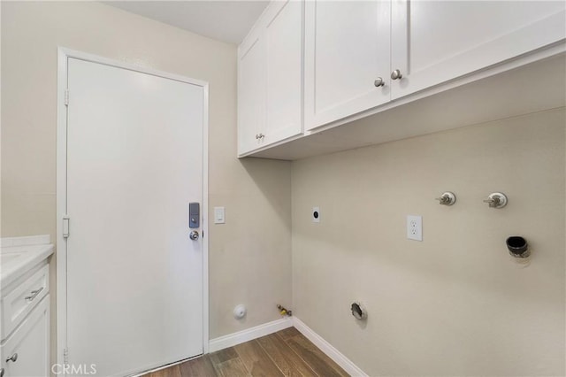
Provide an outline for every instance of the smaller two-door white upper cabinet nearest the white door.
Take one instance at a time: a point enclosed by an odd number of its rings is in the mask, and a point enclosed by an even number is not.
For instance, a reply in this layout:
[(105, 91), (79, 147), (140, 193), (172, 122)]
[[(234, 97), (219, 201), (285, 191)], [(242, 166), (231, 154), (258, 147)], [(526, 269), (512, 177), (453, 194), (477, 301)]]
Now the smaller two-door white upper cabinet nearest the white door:
[(238, 154), (302, 133), (302, 1), (272, 2), (238, 50)]

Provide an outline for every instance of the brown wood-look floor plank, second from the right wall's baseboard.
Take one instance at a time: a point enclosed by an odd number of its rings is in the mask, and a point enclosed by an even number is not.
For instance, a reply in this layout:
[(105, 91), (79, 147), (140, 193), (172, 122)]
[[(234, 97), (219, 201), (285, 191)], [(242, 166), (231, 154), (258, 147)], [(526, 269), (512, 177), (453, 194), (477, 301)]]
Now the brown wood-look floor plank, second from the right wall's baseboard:
[(316, 373), (299, 358), (278, 335), (266, 335), (257, 339), (265, 353), (273, 360), (279, 370), (287, 377), (314, 377)]

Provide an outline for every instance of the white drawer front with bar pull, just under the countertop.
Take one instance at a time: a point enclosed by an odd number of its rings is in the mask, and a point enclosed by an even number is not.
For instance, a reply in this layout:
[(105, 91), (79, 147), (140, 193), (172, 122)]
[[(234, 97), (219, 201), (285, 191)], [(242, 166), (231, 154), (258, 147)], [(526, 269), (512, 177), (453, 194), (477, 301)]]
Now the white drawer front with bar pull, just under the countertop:
[(19, 325), (27, 313), (42, 301), (49, 292), (50, 270), (44, 265), (39, 271), (19, 284), (9, 294), (2, 298), (2, 328), (0, 338), (4, 339)]

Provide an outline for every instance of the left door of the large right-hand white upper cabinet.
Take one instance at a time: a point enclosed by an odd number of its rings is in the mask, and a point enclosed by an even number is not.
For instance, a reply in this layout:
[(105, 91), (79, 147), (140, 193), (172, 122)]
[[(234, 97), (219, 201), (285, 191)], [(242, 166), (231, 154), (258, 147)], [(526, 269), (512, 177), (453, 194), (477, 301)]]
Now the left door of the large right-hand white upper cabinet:
[(305, 128), (389, 101), (389, 46), (388, 1), (306, 2)]

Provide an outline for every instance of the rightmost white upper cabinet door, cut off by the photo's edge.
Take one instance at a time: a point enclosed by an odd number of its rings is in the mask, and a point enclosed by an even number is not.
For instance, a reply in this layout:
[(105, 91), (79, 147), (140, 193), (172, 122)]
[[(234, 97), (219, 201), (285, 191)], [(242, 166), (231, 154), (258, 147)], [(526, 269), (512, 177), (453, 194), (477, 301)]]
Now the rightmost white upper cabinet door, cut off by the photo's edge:
[(564, 4), (394, 0), (392, 99), (563, 40)]

